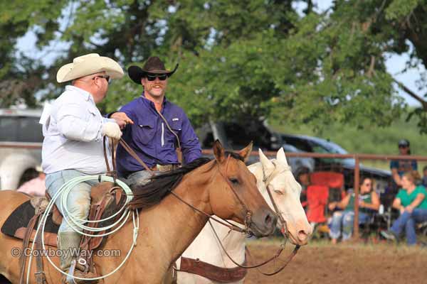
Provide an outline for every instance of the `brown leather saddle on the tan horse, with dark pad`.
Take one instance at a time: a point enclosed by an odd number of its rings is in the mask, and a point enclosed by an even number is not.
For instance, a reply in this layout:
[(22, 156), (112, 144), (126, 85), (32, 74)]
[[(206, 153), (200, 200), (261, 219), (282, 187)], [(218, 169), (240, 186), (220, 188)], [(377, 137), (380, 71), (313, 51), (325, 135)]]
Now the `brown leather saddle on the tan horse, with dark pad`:
[[(102, 182), (99, 185), (92, 187), (90, 192), (91, 202), (88, 219), (90, 221), (98, 221), (115, 214), (125, 203), (126, 196), (122, 194), (122, 188), (115, 186), (112, 182)], [(33, 197), (31, 200), (23, 202), (19, 205), (14, 212), (6, 219), (3, 226), (1, 226), (1, 232), (8, 236), (13, 236), (17, 239), (23, 240), (23, 250), (28, 247), (31, 241), (36, 239), (36, 249), (41, 249), (41, 230), (38, 231), (36, 236), (36, 229), (38, 222), (43, 213), (46, 211), (46, 207), (50, 201), (50, 197), (46, 193), (46, 197)], [(59, 225), (62, 222), (63, 216), (60, 214), (56, 205), (53, 206), (52, 211), (48, 214), (45, 224), (44, 231), (44, 242), (49, 246), (57, 245), (57, 234)], [(88, 223), (88, 226), (108, 226), (115, 222), (114, 219), (107, 220), (105, 222)], [(80, 241), (80, 249), (86, 251), (92, 251), (97, 249), (101, 245), (103, 237), (96, 236), (97, 234), (104, 234), (105, 231), (97, 233), (85, 231), (86, 234), (92, 234), (93, 236), (82, 236)], [(86, 253), (83, 257), (87, 263), (87, 269), (93, 271), (94, 263), (91, 254)], [(80, 258), (82, 258), (80, 256)], [(23, 283), (23, 277), (25, 275), (26, 256), (21, 254), (19, 259), (21, 272), (19, 277), (19, 283)], [(41, 256), (36, 257), (36, 283), (45, 284), (46, 276), (43, 271), (43, 261)]]

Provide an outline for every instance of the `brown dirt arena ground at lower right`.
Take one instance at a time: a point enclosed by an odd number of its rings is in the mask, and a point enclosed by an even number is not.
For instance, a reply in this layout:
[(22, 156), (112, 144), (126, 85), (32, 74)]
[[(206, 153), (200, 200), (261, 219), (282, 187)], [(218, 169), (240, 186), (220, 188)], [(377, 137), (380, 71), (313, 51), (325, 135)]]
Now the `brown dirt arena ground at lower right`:
[[(285, 259), (292, 247), (280, 258)], [(277, 244), (271, 242), (255, 241), (249, 245), (251, 254), (258, 259), (272, 256), (277, 248)], [(274, 271), (273, 268), (269, 266), (263, 271)], [(332, 246), (317, 242), (303, 246), (278, 275), (268, 277), (253, 269), (246, 279), (246, 284), (427, 283), (427, 248), (393, 244)]]

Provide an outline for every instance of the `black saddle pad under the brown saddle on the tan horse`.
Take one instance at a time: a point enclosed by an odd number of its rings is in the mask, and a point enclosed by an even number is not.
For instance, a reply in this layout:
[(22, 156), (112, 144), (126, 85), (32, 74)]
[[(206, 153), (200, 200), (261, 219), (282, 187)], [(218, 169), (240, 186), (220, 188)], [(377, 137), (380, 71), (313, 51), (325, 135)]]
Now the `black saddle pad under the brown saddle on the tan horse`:
[[(23, 202), (19, 205), (14, 212), (6, 219), (3, 226), (1, 226), (1, 232), (8, 236), (15, 236), (16, 231), (19, 228), (26, 228), (30, 219), (36, 214), (34, 207), (31, 205), (30, 200)], [(37, 229), (38, 222), (35, 229)], [(46, 219), (45, 233), (58, 233), (59, 226), (54, 224), (52, 221), (52, 214), (48, 215)]]

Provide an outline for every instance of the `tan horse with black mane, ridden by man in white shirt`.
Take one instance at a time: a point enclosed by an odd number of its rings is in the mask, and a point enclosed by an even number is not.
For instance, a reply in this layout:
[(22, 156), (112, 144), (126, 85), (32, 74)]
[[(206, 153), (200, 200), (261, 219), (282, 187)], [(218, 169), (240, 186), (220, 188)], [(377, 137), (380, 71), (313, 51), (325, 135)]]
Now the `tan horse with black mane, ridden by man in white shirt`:
[[(184, 252), (206, 224), (209, 215), (231, 219), (240, 224), (247, 221), (255, 236), (267, 236), (274, 230), (277, 217), (268, 207), (256, 187), (254, 175), (246, 168), (245, 160), (252, 145), (238, 154), (225, 153), (221, 143), (214, 143), (215, 159), (198, 159), (173, 172), (160, 175), (142, 187), (132, 189), (131, 208), (139, 211), (137, 246), (117, 273), (104, 279), (104, 283), (164, 283), (168, 280), (172, 263)], [(173, 190), (174, 195), (169, 194)], [(196, 209), (189, 207), (180, 197)], [(19, 204), (28, 200), (26, 195), (13, 191), (0, 192), (3, 206), (0, 224)], [(248, 220), (248, 212), (251, 219)], [(110, 235), (105, 245), (93, 254), (98, 273), (106, 275), (122, 262), (133, 240), (132, 222)], [(11, 255), (21, 241), (0, 234), (0, 273), (17, 283), (19, 258)], [(51, 248), (54, 249), (54, 248)], [(121, 252), (120, 257), (102, 257), (105, 251)], [(58, 265), (58, 258), (52, 258)], [(48, 283), (60, 283), (61, 274), (43, 258)], [(35, 283), (35, 267), (31, 270), (31, 283)]]

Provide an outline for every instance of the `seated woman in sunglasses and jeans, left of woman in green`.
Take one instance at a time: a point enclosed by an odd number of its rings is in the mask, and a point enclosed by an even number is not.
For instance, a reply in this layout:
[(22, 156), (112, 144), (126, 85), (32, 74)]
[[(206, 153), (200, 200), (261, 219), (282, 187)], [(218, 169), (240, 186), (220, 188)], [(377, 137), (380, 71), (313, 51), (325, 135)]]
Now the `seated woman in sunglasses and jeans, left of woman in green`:
[[(372, 190), (371, 178), (364, 178), (360, 185), (359, 194), (359, 224), (364, 224), (369, 219), (369, 210), (379, 209), (379, 197), (375, 190)], [(328, 205), (330, 210), (342, 209), (344, 211), (334, 212), (330, 228), (332, 244), (337, 244), (337, 239), (341, 235), (342, 241), (347, 241), (353, 233), (354, 221), (354, 192), (347, 194), (339, 202), (331, 202)]]

